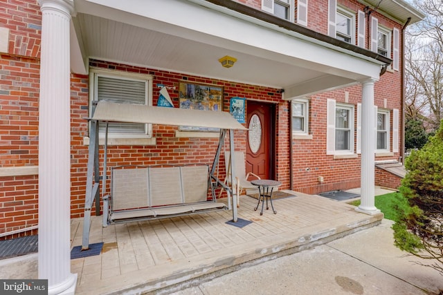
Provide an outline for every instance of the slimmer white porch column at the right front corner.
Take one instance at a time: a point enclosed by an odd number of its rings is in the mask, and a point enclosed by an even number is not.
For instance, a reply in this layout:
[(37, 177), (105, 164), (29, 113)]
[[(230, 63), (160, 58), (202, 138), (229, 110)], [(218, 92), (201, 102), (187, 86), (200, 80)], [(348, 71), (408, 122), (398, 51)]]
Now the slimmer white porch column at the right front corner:
[(375, 114), (374, 79), (361, 83), (361, 204), (356, 208), (367, 214), (380, 213), (374, 204), (375, 195)]

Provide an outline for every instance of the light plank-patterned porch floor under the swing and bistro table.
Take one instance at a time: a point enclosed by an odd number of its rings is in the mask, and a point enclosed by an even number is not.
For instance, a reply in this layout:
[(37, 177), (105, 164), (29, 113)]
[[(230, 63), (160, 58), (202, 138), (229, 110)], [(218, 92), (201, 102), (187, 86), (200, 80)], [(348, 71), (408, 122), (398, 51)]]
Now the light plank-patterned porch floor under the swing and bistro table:
[[(93, 216), (89, 242), (104, 242), (98, 256), (71, 260), (78, 274), (76, 294), (153, 292), (209, 279), (340, 238), (377, 225), (383, 218), (320, 196), (294, 193), (273, 201), (278, 212), (253, 208), (257, 200), (241, 196), (238, 217), (252, 221), (226, 224), (232, 211), (129, 222), (102, 227)], [(266, 209), (266, 208), (265, 208)], [(259, 208), (260, 210), (260, 208)], [(71, 220), (71, 245), (82, 244), (82, 219)]]

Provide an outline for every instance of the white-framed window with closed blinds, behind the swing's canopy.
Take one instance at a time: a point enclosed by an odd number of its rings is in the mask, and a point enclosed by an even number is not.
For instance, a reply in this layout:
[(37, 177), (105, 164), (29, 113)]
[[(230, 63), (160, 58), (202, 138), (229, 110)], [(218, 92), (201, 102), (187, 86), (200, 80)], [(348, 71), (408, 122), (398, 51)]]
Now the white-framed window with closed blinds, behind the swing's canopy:
[[(90, 108), (92, 102), (152, 105), (152, 76), (116, 70), (91, 68), (89, 71)], [(105, 133), (100, 123), (99, 133)], [(152, 136), (152, 124), (109, 123), (109, 137), (143, 138)]]

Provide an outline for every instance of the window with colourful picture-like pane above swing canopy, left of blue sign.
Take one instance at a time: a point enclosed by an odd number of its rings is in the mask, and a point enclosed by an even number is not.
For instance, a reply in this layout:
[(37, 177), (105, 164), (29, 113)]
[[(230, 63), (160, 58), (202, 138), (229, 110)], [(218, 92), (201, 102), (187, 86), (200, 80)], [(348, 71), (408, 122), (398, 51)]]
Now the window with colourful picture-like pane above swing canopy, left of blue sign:
[[(215, 85), (179, 84), (180, 108), (192, 108), (201, 111), (222, 111), (223, 88)], [(217, 128), (180, 126), (181, 131), (219, 131)]]

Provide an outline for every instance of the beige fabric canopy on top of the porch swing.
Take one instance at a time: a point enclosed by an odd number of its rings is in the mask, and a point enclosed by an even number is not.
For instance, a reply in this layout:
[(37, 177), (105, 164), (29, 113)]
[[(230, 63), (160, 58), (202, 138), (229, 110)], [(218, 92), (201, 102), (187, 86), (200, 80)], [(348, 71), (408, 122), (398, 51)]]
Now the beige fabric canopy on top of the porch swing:
[(92, 117), (102, 122), (196, 126), (219, 129), (246, 130), (230, 113), (205, 112), (187, 108), (165, 108), (141, 104), (98, 102)]

